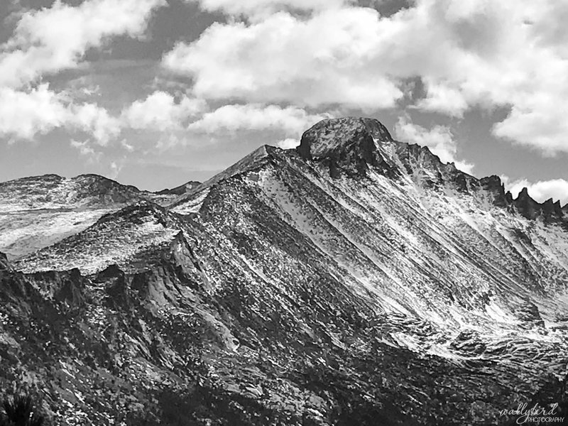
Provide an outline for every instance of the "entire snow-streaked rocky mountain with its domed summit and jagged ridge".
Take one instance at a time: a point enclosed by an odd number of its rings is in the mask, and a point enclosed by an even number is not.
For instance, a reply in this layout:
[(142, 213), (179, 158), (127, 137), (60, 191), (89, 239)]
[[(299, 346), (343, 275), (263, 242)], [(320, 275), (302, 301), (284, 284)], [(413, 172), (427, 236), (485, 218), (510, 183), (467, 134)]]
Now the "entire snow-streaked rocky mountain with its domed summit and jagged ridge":
[(1, 388), (50, 424), (568, 417), (566, 206), (373, 119), (182, 190), (89, 179), (0, 184)]

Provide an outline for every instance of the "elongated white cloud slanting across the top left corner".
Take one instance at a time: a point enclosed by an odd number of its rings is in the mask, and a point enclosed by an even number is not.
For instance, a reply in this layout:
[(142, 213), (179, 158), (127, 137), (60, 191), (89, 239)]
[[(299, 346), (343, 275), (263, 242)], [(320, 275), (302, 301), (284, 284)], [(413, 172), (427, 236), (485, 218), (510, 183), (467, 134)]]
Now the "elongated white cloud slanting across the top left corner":
[(75, 68), (89, 48), (116, 35), (138, 37), (165, 0), (87, 0), (23, 13), (1, 46), (0, 85), (20, 87), (48, 73)]

